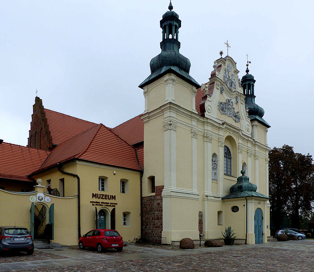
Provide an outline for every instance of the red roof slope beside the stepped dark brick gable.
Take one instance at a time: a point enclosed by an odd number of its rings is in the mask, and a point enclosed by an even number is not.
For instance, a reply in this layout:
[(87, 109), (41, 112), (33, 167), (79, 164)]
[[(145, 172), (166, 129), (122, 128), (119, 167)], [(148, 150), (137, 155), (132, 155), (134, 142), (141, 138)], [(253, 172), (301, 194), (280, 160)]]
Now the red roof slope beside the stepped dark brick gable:
[(81, 120), (70, 115), (45, 109), (49, 130), (52, 136), (52, 144), (59, 145), (62, 142), (97, 125), (89, 121)]

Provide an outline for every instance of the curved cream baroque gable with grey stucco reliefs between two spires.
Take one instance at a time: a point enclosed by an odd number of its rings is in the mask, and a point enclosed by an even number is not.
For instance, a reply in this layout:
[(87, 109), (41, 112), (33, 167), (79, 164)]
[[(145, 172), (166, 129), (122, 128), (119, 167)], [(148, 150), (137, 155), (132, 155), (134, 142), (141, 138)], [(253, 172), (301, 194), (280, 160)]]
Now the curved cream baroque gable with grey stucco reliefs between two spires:
[(201, 87), (205, 94), (200, 103), (201, 115), (237, 126), (250, 135), (252, 126), (235, 61), (229, 56), (220, 58), (213, 68), (209, 82)]

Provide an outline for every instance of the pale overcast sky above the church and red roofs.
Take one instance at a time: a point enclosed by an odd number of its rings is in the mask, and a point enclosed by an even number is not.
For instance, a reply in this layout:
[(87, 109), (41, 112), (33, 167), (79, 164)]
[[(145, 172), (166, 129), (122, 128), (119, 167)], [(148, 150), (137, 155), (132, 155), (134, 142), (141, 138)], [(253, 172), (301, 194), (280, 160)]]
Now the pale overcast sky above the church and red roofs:
[[(265, 110), (270, 148), (314, 155), (313, 0), (173, 0), (180, 52), (208, 82), (219, 51)], [(0, 139), (26, 145), (37, 95), (45, 108), (114, 127), (144, 110), (138, 85), (160, 53), (169, 0), (0, 0)], [(311, 83), (311, 84), (309, 84)]]

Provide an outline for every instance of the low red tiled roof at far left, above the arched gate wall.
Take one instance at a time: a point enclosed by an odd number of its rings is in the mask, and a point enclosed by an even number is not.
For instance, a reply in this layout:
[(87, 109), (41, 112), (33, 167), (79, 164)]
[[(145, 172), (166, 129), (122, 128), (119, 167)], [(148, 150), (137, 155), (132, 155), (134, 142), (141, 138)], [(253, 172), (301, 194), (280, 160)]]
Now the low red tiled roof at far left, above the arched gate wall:
[(37, 170), (50, 151), (2, 143), (0, 145), (0, 178), (33, 181), (26, 175)]

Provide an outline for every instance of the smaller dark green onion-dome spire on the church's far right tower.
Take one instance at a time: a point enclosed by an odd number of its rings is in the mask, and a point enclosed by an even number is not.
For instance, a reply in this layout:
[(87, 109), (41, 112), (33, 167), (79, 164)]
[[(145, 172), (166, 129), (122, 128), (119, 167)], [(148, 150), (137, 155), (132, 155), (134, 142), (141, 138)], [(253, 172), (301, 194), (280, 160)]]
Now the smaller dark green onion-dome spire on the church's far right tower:
[(258, 121), (266, 127), (270, 125), (262, 118), (264, 116), (264, 110), (262, 107), (255, 103), (256, 96), (254, 95), (254, 83), (255, 79), (252, 74), (249, 74), (249, 64), (246, 64), (246, 74), (242, 76), (241, 86), (243, 88), (243, 94), (245, 97), (245, 106), (248, 108), (249, 118), (251, 121)]

